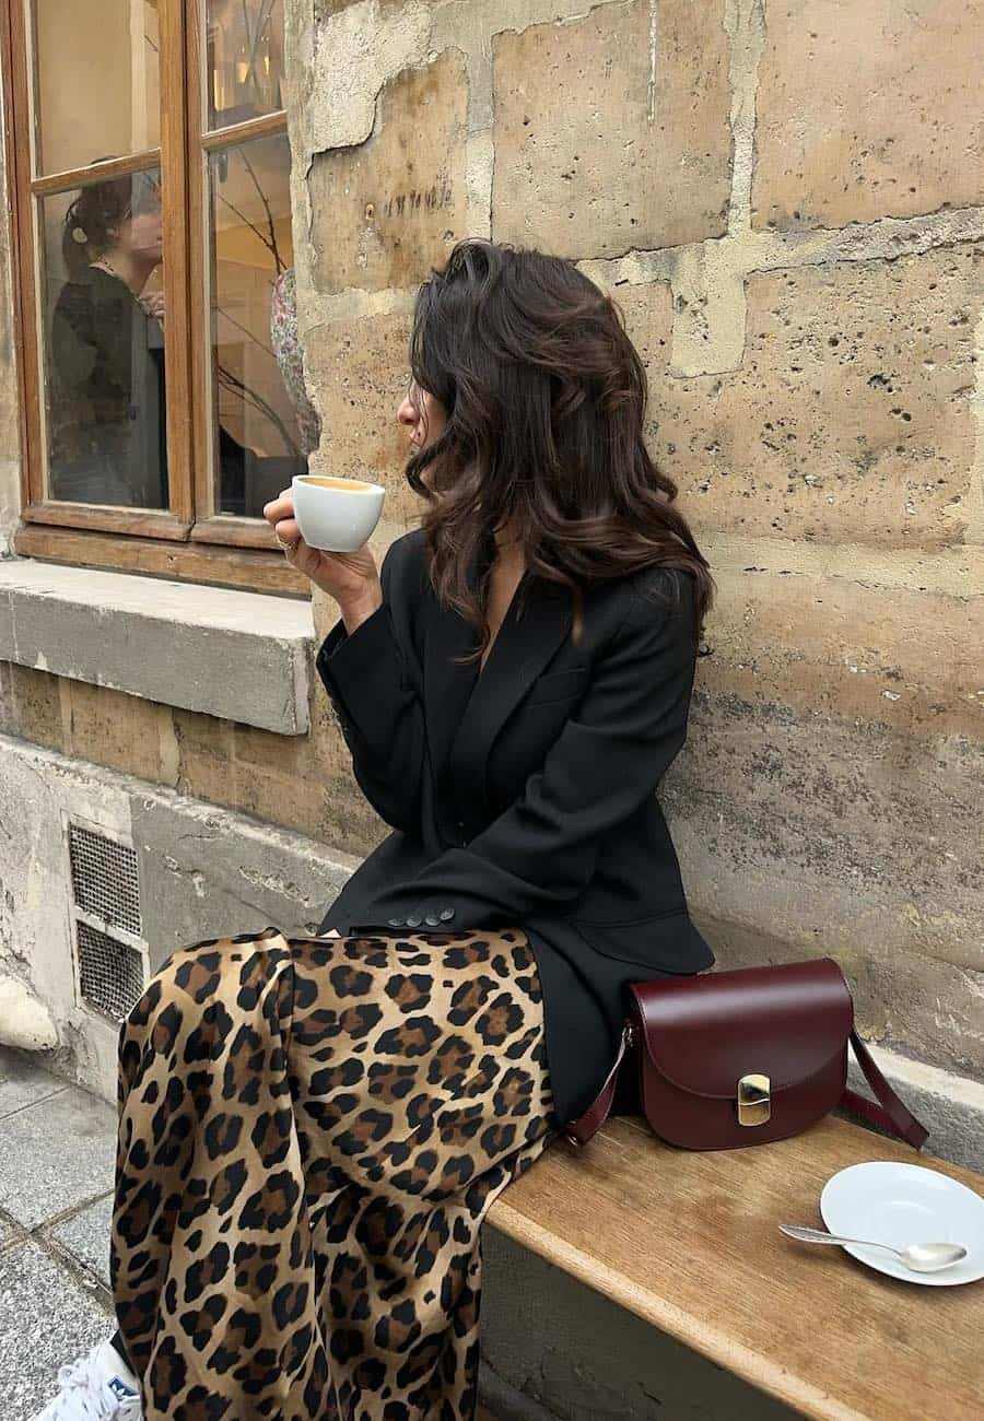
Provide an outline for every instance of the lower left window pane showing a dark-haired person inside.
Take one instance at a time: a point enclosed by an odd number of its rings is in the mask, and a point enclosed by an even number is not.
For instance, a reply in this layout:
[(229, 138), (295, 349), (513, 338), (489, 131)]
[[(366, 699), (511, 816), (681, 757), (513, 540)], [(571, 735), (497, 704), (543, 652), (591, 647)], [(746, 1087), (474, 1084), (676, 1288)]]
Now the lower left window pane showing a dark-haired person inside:
[(156, 169), (38, 202), (47, 496), (168, 507)]

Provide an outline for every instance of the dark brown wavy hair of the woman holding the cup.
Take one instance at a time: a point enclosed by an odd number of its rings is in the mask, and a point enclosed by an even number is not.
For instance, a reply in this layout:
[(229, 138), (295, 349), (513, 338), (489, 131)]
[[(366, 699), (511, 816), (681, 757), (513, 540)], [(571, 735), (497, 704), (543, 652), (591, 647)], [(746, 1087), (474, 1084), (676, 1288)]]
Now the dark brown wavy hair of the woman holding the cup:
[(466, 661), (491, 637), (466, 571), (512, 517), (526, 570), (569, 588), (574, 642), (583, 588), (653, 564), (692, 573), (700, 635), (714, 584), (643, 441), (646, 368), (609, 296), (562, 257), (459, 242), (417, 296), (410, 367), (418, 414), (419, 389), (446, 412), (407, 482), (434, 590), (482, 632)]

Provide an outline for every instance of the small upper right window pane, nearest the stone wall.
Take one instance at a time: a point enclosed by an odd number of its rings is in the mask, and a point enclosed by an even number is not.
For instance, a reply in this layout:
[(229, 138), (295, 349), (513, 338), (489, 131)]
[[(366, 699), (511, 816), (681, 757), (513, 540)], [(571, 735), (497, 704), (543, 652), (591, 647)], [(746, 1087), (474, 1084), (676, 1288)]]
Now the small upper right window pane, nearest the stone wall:
[(286, 108), (283, 0), (209, 0), (205, 13), (206, 128)]

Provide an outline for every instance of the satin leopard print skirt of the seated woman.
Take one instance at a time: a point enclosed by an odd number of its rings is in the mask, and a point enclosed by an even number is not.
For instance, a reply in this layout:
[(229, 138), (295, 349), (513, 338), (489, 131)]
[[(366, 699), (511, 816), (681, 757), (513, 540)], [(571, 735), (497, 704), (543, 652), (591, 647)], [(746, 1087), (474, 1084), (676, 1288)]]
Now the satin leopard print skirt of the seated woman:
[(119, 1033), (146, 1421), (465, 1421), (479, 1225), (557, 1131), (522, 929), (178, 949)]

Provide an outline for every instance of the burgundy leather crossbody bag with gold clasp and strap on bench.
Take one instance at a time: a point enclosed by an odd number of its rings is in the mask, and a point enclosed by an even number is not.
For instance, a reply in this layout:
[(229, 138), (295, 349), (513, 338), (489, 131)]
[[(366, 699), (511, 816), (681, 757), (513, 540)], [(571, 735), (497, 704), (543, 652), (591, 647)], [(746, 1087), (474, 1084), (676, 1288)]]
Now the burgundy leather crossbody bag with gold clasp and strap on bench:
[[(877, 1104), (847, 1088), (847, 1042)], [(606, 1121), (633, 1053), (646, 1118), (684, 1150), (785, 1140), (838, 1104), (916, 1150), (927, 1137), (857, 1036), (833, 958), (633, 983), (619, 1056), (594, 1103), (567, 1125), (573, 1144), (587, 1144)]]

